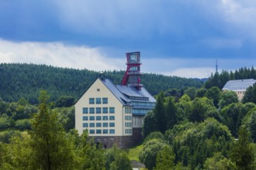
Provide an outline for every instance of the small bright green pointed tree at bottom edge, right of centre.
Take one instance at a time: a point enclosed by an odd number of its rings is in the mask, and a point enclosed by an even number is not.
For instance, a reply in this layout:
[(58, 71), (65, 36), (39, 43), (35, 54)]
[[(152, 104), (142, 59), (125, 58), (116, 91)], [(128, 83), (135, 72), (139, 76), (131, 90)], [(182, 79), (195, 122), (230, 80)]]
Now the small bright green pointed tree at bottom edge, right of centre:
[(157, 153), (157, 163), (154, 170), (171, 170), (175, 168), (175, 154), (171, 147), (166, 145)]

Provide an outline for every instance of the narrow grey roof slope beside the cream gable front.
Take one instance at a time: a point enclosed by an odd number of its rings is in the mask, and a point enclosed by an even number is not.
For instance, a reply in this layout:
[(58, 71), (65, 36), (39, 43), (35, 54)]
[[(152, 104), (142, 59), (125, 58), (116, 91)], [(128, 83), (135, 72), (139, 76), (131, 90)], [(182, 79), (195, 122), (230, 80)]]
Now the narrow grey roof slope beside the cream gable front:
[(123, 105), (131, 105), (130, 99), (125, 97), (123, 93), (121, 93), (117, 88), (116, 85), (112, 83), (109, 79), (99, 79), (102, 83), (112, 92), (112, 94), (123, 104)]

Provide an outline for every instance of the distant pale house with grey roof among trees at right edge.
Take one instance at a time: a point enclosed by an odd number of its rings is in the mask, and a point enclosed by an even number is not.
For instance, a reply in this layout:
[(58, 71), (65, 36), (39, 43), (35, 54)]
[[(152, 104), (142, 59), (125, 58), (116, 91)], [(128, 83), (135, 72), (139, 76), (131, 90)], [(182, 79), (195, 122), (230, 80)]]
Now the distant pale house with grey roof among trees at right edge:
[(254, 79), (229, 80), (222, 90), (232, 90), (237, 93), (238, 100), (242, 100), (247, 88), (253, 86), (254, 83), (256, 83), (256, 80)]

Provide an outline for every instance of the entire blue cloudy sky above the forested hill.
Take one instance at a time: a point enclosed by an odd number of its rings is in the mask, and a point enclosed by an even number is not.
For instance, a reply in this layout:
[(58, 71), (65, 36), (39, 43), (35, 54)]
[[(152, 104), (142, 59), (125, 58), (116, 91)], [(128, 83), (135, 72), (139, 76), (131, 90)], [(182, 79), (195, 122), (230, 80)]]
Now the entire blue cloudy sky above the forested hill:
[(0, 63), (205, 78), (256, 66), (255, 0), (0, 0)]

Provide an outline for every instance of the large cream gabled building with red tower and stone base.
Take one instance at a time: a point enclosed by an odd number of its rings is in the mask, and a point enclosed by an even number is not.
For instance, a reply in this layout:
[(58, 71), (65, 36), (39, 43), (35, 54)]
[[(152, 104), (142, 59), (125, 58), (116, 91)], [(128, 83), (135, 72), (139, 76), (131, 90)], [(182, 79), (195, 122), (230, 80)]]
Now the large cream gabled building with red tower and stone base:
[(75, 107), (75, 128), (104, 148), (127, 148), (141, 139), (145, 114), (156, 100), (140, 83), (140, 53), (126, 53), (127, 69), (121, 85), (103, 74), (92, 83)]

